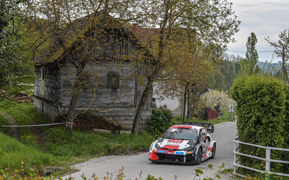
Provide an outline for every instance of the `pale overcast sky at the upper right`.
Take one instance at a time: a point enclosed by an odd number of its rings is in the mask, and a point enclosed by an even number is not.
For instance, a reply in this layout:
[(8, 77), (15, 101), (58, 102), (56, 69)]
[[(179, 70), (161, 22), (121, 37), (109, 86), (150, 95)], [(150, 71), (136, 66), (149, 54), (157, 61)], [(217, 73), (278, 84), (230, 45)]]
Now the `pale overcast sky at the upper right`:
[[(254, 32), (257, 37), (257, 51), (272, 51), (273, 47), (264, 39), (278, 41), (281, 31), (289, 28), (289, 0), (228, 0), (233, 3), (233, 10), (241, 21), (240, 31), (235, 34), (236, 43), (228, 44), (228, 50), (247, 51), (248, 36)], [(245, 57), (244, 52), (230, 52), (228, 54)], [(258, 52), (259, 61), (270, 61), (273, 52)], [(274, 57), (272, 62), (282, 61)]]

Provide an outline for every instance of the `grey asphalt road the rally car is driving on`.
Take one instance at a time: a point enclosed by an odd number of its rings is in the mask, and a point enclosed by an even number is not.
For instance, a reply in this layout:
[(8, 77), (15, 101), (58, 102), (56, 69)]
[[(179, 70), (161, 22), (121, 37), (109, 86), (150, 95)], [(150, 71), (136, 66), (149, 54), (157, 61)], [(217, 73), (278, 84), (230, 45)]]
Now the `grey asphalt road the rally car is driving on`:
[[(216, 155), (214, 159), (207, 159), (200, 165), (182, 165), (182, 164), (169, 164), (169, 163), (152, 163), (148, 160), (148, 152), (140, 153), (138, 155), (124, 155), (124, 156), (104, 156), (94, 158), (84, 163), (76, 164), (73, 168), (78, 169), (76, 173), (64, 176), (76, 177), (80, 180), (82, 173), (89, 178), (95, 173), (96, 177), (103, 179), (107, 176), (107, 172), (112, 173), (113, 179), (119, 172), (121, 167), (124, 167), (123, 173), (126, 176), (124, 179), (136, 179), (140, 177), (145, 178), (148, 174), (155, 177), (161, 177), (164, 180), (173, 180), (176, 176), (178, 180), (193, 179), (197, 167), (203, 169), (204, 175), (200, 176), (215, 178), (218, 173), (219, 166), (225, 163), (225, 168), (233, 167), (233, 140), (237, 138), (237, 130), (235, 122), (223, 122), (214, 125), (214, 133), (212, 138), (217, 141)], [(213, 169), (207, 167), (208, 163), (213, 164)], [(217, 178), (216, 178), (217, 179)]]

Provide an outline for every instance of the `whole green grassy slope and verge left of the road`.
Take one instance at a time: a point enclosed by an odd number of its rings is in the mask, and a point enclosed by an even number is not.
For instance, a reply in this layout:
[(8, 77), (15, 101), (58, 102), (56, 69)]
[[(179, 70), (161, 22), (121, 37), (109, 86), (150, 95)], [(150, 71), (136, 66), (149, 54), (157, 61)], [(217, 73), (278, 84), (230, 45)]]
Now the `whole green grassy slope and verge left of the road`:
[[(16, 103), (9, 100), (0, 100), (0, 125), (8, 125), (7, 116), (13, 117), (18, 125), (29, 125), (33, 120), (37, 124), (48, 123), (34, 109), (30, 101)], [(73, 130), (72, 136), (64, 132), (64, 126), (41, 127), (47, 152), (43, 152), (36, 141), (36, 137), (29, 127), (20, 127), (19, 141), (8, 137), (10, 128), (2, 128), (5, 133), (0, 137), (0, 169), (12, 167), (20, 169), (24, 163), (23, 174), (31, 172), (29, 167), (36, 166), (39, 173), (43, 166), (66, 167), (66, 170), (55, 173), (59, 175), (70, 170), (71, 164), (83, 162), (107, 154), (122, 154), (138, 151), (147, 151), (155, 140), (154, 135), (146, 132), (138, 136), (130, 134), (98, 134), (92, 131)], [(5, 146), (3, 146), (5, 145)], [(2, 146), (4, 148), (2, 148)], [(6, 158), (5, 161), (2, 159)]]

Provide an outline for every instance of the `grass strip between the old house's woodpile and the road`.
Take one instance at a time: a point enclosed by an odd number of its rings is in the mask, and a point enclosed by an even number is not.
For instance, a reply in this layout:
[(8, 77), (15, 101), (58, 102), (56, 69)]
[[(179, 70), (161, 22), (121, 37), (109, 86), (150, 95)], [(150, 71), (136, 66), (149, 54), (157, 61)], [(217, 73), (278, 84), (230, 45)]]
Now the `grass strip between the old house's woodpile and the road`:
[[(110, 153), (120, 154), (122, 149), (148, 149), (154, 136), (146, 132), (134, 136), (130, 134), (98, 134), (91, 131), (73, 130), (70, 137), (63, 128), (50, 128), (44, 134), (47, 151), (55, 156), (94, 158)], [(117, 147), (117, 145), (120, 145)]]

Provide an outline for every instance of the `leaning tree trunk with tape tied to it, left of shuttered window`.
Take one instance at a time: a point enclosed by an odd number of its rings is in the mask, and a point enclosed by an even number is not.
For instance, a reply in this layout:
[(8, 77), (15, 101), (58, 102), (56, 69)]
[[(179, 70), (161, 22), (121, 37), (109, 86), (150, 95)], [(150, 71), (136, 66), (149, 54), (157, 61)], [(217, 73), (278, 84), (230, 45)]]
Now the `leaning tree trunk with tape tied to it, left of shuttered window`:
[[(76, 71), (75, 81), (73, 84), (72, 95), (70, 98), (70, 104), (69, 104), (69, 108), (68, 108), (68, 112), (67, 112), (67, 122), (70, 122), (70, 123), (73, 123), (74, 110), (76, 107), (78, 94), (79, 94), (79, 90), (80, 90), (80, 79), (81, 79), (85, 64), (79, 63), (78, 67), (76, 68), (77, 71)], [(67, 132), (68, 134), (72, 134), (72, 124), (67, 124), (65, 132)]]

